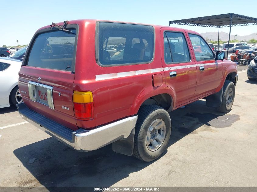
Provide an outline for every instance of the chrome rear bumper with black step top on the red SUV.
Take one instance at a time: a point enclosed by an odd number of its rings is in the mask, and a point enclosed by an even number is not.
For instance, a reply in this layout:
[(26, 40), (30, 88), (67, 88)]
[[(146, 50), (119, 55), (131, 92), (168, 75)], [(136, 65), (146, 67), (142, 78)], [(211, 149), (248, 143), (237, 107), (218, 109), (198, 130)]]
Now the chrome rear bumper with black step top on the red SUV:
[(73, 131), (27, 108), (24, 103), (17, 104), (17, 108), (24, 120), (81, 152), (96, 150), (127, 138), (137, 123), (137, 116), (132, 116), (92, 130)]

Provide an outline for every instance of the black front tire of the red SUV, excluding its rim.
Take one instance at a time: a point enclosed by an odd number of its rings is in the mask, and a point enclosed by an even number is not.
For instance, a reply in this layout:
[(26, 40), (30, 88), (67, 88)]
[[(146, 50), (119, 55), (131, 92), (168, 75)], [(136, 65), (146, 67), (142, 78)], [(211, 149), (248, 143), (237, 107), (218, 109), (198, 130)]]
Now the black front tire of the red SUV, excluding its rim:
[[(228, 95), (228, 91), (231, 90), (231, 89), (233, 91), (232, 98), (231, 98), (229, 106), (227, 106), (227, 95)], [(232, 81), (226, 80), (224, 85), (223, 85), (223, 93), (222, 93), (221, 106), (218, 107), (217, 110), (219, 112), (222, 112), (222, 113), (229, 112), (231, 107), (232, 107), (232, 105), (233, 105), (233, 103), (234, 103), (234, 98), (235, 98), (235, 85), (234, 85), (234, 83)]]

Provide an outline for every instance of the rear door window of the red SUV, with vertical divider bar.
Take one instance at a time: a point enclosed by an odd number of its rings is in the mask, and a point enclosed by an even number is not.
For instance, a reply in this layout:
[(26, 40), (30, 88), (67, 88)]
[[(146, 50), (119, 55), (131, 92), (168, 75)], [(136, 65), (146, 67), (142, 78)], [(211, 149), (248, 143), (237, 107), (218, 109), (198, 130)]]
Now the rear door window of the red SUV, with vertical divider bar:
[(164, 60), (166, 63), (190, 61), (189, 50), (183, 33), (165, 32)]

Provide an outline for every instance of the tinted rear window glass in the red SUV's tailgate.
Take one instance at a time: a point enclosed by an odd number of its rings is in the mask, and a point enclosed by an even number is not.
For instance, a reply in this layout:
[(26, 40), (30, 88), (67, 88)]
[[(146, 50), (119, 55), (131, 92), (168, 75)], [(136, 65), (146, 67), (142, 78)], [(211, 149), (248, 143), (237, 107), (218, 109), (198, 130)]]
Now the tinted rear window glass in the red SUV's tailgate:
[(74, 71), (76, 29), (39, 34), (30, 50), (28, 66)]

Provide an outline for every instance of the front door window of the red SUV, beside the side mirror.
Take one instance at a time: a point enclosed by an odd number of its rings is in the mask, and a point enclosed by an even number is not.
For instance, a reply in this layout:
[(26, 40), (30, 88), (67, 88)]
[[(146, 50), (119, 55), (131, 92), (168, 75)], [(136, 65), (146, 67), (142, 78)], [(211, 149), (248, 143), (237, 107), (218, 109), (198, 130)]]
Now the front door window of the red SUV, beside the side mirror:
[(207, 43), (199, 35), (189, 34), (189, 38), (194, 48), (197, 61), (213, 60), (214, 54)]

